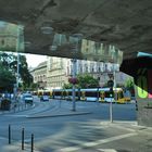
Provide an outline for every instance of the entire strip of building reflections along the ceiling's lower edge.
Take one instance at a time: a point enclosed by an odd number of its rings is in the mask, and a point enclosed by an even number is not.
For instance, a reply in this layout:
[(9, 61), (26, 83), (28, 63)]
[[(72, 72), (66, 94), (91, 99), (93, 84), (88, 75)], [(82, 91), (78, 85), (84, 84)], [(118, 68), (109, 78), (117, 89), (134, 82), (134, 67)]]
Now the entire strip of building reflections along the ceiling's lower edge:
[[(80, 38), (76, 36), (80, 36)], [(24, 27), (22, 25), (0, 22), (1, 51), (26, 53), (30, 50), (31, 53), (35, 53), (36, 49), (38, 49), (37, 54), (45, 55), (118, 64), (123, 61), (123, 52), (116, 47), (87, 40), (83, 38), (81, 34), (63, 35), (54, 33), (53, 39), (50, 39), (50, 45), (47, 43), (48, 47), (45, 47), (45, 41), (43, 43), (38, 43), (36, 41), (36, 48), (33, 48), (33, 43), (24, 38)], [(39, 46), (39, 48), (37, 46)], [(45, 48), (45, 50), (42, 50), (42, 48)]]

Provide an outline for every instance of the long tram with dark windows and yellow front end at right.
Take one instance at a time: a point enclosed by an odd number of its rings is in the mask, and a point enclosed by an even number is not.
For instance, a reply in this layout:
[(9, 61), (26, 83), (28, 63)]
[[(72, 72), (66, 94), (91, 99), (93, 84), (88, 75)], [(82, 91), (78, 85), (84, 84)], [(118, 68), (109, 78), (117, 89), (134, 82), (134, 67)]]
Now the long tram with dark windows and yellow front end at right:
[[(72, 89), (54, 89), (52, 91), (53, 99), (72, 100)], [(89, 102), (116, 102), (128, 103), (130, 98), (124, 96), (122, 88), (89, 88), (89, 89), (75, 89), (75, 97), (77, 101)]]

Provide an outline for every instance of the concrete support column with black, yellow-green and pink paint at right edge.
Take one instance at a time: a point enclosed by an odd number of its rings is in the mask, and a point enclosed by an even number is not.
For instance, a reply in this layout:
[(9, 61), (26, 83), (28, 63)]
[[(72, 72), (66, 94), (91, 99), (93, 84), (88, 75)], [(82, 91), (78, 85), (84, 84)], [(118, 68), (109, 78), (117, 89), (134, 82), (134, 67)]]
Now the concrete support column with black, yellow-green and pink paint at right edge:
[(152, 58), (123, 61), (121, 71), (135, 80), (138, 125), (152, 127)]

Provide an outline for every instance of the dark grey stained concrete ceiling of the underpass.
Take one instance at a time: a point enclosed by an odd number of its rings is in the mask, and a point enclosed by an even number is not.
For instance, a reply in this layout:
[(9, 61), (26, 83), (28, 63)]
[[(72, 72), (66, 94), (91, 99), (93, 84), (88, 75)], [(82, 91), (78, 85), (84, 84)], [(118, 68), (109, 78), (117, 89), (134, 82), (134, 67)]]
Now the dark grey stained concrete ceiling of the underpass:
[[(0, 20), (25, 26), (25, 52), (59, 55), (50, 51), (54, 33), (114, 45), (124, 59), (152, 52), (151, 0), (0, 0)], [(53, 33), (43, 35), (41, 27)], [(68, 56), (71, 46), (62, 48)]]

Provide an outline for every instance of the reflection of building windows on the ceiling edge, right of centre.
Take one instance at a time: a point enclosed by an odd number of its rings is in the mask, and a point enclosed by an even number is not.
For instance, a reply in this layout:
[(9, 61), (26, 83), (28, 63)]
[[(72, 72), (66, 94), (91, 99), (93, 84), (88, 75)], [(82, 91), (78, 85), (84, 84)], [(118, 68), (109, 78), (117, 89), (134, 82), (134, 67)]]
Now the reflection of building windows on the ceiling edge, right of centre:
[(81, 60), (118, 64), (123, 61), (123, 52), (114, 46), (94, 42), (87, 39), (79, 39), (77, 42), (76, 38), (73, 36), (55, 34), (52, 46), (56, 46), (58, 52), (63, 55), (65, 53), (64, 47), (66, 47), (65, 51), (68, 52), (66, 55), (67, 58), (74, 58), (74, 55), (76, 55), (77, 59)]

